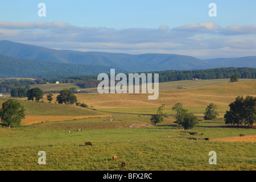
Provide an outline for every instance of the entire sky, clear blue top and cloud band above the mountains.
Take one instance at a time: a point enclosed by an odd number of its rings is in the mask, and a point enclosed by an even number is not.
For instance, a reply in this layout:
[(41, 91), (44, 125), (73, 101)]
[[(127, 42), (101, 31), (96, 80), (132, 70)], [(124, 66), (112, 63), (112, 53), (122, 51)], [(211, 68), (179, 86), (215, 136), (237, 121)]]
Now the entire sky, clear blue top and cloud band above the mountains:
[[(46, 17), (38, 4), (46, 4)], [(209, 3), (217, 16), (210, 17)], [(256, 1), (0, 1), (0, 40), (56, 49), (256, 55)]]

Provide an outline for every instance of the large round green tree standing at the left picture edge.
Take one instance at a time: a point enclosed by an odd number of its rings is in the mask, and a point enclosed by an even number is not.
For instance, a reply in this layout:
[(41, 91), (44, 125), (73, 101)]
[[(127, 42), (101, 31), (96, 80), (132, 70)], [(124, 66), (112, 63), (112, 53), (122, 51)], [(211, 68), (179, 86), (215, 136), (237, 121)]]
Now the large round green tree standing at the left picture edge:
[(1, 122), (8, 127), (20, 126), (21, 120), (25, 118), (24, 111), (24, 107), (18, 101), (9, 99), (2, 104), (0, 110)]

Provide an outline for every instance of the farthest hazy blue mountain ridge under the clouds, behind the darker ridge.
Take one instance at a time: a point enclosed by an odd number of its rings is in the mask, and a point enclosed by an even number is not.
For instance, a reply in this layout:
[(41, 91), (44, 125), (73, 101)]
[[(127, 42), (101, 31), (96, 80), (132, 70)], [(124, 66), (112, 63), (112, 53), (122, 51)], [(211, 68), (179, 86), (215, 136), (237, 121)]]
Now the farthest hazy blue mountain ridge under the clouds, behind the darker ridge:
[(192, 56), (160, 53), (129, 55), (126, 53), (55, 50), (7, 40), (0, 41), (0, 55), (56, 63), (101, 65), (122, 68), (127, 72), (193, 70), (221, 67), (256, 68), (256, 56), (200, 60)]

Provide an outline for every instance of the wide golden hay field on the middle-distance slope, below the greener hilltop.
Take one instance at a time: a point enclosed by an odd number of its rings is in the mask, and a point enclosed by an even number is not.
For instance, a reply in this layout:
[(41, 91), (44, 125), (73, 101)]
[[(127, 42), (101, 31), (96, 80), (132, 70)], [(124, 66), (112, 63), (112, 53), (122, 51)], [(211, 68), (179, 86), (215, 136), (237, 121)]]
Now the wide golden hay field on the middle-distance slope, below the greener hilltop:
[(237, 96), (256, 96), (256, 80), (202, 86), (199, 88), (160, 91), (157, 100), (148, 100), (148, 94), (76, 94), (79, 102), (96, 108), (118, 107), (172, 107), (177, 102), (184, 107), (206, 107), (214, 102), (228, 107)]

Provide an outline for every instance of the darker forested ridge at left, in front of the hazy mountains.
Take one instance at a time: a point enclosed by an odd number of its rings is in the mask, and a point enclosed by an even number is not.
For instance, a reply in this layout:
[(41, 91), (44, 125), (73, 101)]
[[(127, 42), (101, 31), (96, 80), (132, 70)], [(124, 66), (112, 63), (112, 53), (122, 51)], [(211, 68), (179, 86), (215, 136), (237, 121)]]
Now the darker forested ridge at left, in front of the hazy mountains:
[[(0, 55), (0, 78), (65, 78), (75, 75), (94, 75), (99, 73), (108, 73), (110, 68), (115, 67), (35, 61)], [(125, 73), (127, 71), (120, 68), (115, 68), (115, 72)]]

